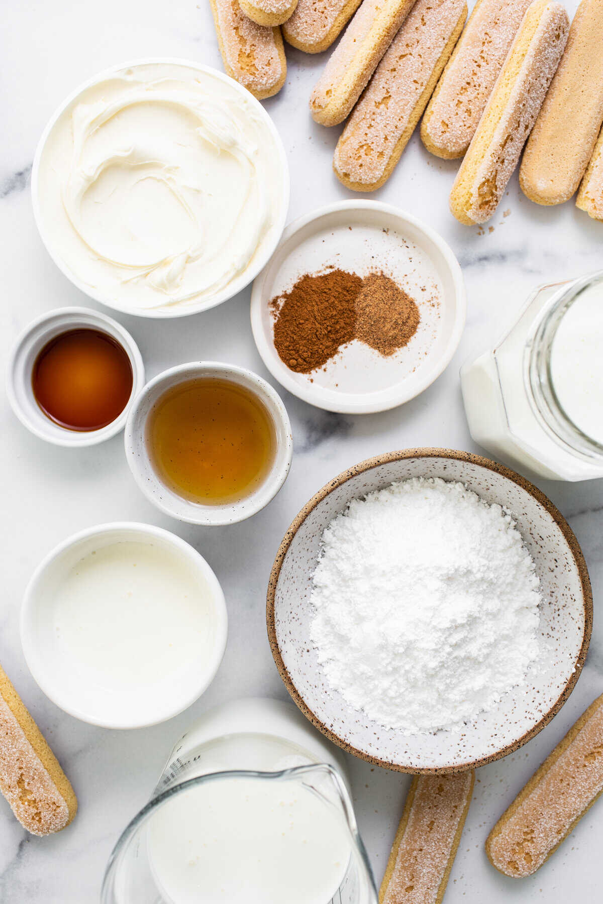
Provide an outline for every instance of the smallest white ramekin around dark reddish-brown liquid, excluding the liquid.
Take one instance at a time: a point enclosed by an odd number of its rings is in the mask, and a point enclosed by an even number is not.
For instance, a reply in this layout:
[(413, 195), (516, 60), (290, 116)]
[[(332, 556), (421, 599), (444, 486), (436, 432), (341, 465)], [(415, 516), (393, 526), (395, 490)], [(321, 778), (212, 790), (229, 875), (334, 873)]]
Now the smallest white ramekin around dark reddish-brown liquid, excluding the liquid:
[[(106, 333), (121, 345), (132, 366), (132, 391), (126, 408), (107, 427), (99, 430), (69, 430), (55, 424), (44, 414), (33, 396), (33, 364), (42, 348), (55, 336), (77, 329), (95, 329)], [(21, 423), (36, 437), (55, 446), (96, 446), (123, 430), (127, 412), (145, 383), (145, 365), (132, 336), (117, 320), (88, 307), (60, 307), (42, 314), (26, 326), (16, 340), (6, 371), (6, 395)]]

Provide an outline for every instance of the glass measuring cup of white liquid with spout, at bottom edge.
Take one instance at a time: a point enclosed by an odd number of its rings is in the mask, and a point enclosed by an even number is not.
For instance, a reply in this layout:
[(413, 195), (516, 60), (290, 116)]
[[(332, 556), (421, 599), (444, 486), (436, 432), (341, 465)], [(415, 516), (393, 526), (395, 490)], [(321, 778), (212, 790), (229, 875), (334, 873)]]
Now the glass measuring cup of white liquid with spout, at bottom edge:
[(376, 904), (341, 766), (288, 704), (206, 714), (119, 838), (102, 904)]

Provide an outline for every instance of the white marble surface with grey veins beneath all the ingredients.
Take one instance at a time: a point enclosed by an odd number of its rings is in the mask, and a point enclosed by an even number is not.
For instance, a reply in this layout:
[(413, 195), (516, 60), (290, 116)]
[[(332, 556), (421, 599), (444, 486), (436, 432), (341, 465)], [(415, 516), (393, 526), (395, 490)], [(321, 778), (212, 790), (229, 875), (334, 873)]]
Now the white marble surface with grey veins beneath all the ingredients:
[[(570, 0), (573, 12), (574, 0)], [(88, 302), (53, 265), (33, 223), (29, 173), (47, 118), (61, 99), (95, 72), (122, 61), (172, 56), (221, 68), (209, 5), (202, 0), (91, 0), (5, 5), (0, 88), (0, 229), (3, 360), (15, 335), (53, 307)], [(287, 49), (287, 84), (265, 102), (287, 148), (292, 192), (289, 219), (349, 197), (331, 171), (338, 128), (316, 126), (306, 99), (325, 55)], [(269, 569), (288, 523), (326, 480), (365, 457), (410, 446), (480, 451), (469, 437), (458, 368), (504, 327), (539, 283), (600, 268), (603, 225), (570, 202), (541, 208), (519, 193), (516, 176), (485, 230), (459, 225), (448, 212), (454, 162), (430, 157), (418, 137), (375, 197), (398, 204), (440, 231), (464, 269), (466, 331), (448, 370), (404, 407), (347, 417), (315, 410), (283, 393), (295, 433), (295, 457), (278, 497), (250, 522), (227, 528), (186, 526), (146, 502), (127, 469), (121, 437), (90, 449), (45, 445), (14, 419), (0, 400), (2, 574), (0, 661), (46, 734), (80, 799), (69, 829), (33, 838), (0, 798), (0, 900), (3, 904), (92, 904), (118, 833), (146, 802), (174, 739), (207, 707), (241, 695), (285, 699), (269, 651), (264, 619)], [(504, 216), (504, 211), (510, 211)], [(134, 334), (147, 374), (183, 361), (211, 357), (268, 376), (250, 331), (249, 289), (207, 314), (174, 322), (119, 319)], [(480, 769), (475, 799), (454, 864), (446, 904), (489, 904), (595, 899), (600, 888), (597, 853), (603, 844), (603, 801), (531, 879), (508, 880), (487, 862), (485, 836), (524, 781), (570, 724), (603, 691), (603, 628), (598, 620), (603, 581), (603, 481), (564, 485), (539, 481), (559, 505), (582, 544), (595, 595), (589, 658), (570, 701), (551, 725), (516, 755)], [(221, 580), (231, 620), (224, 661), (201, 700), (174, 720), (148, 730), (99, 730), (71, 719), (48, 701), (24, 664), (19, 607), (37, 562), (71, 532), (92, 524), (132, 519), (179, 533), (209, 560)], [(116, 626), (117, 629), (117, 626)], [(349, 758), (355, 807), (376, 880), (382, 879), (408, 777)]]

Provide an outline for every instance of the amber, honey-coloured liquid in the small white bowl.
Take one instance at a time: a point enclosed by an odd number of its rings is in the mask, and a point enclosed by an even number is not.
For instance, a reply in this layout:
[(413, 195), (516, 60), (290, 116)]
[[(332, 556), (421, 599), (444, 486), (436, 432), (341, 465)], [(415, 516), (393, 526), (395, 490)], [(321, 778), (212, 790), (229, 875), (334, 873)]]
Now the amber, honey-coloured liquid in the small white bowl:
[(253, 393), (226, 380), (190, 380), (158, 401), (148, 425), (155, 469), (174, 493), (206, 505), (238, 502), (268, 475), (275, 431)]

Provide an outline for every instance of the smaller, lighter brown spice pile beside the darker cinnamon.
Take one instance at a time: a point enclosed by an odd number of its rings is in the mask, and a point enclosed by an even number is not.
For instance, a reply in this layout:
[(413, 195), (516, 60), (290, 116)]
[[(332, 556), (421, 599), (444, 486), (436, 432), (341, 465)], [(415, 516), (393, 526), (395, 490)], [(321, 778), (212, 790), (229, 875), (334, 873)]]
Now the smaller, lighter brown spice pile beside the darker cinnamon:
[(389, 356), (417, 332), (419, 308), (413, 298), (384, 273), (370, 273), (356, 297), (355, 338)]

